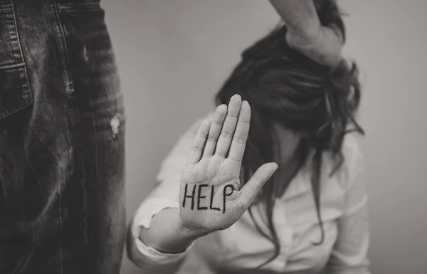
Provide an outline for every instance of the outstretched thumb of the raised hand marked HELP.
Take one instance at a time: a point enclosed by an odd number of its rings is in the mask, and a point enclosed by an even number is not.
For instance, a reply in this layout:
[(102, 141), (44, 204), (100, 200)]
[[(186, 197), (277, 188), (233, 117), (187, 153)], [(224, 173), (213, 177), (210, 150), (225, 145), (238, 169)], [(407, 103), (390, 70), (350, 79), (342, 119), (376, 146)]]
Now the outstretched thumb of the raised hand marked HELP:
[(263, 188), (268, 179), (273, 176), (274, 172), (278, 169), (276, 163), (263, 164), (253, 174), (252, 178), (241, 189), (241, 204), (248, 209), (258, 192)]

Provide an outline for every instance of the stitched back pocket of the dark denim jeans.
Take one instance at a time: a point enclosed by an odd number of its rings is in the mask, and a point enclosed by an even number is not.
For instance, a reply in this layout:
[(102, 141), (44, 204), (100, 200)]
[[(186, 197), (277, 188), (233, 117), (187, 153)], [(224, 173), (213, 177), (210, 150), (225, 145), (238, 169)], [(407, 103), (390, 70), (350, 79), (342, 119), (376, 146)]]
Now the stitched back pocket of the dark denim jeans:
[(0, 119), (32, 103), (14, 6), (0, 5)]

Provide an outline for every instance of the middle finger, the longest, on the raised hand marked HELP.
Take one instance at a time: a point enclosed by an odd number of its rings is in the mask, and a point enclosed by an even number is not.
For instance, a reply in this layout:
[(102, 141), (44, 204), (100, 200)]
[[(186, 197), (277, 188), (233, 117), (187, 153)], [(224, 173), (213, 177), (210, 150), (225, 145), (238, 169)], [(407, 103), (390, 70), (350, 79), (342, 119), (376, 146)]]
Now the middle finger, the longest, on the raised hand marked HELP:
[(238, 115), (241, 110), (240, 95), (233, 95), (228, 103), (226, 120), (224, 121), (221, 135), (219, 135), (218, 143), (216, 144), (215, 154), (220, 157), (226, 157), (228, 149), (230, 149), (231, 139), (233, 139), (234, 131), (236, 130)]

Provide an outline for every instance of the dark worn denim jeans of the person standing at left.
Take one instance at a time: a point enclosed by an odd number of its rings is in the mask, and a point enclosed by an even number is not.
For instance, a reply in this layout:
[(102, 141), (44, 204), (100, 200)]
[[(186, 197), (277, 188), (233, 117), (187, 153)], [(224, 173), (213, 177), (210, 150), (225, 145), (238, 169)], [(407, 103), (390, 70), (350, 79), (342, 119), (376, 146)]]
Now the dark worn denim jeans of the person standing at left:
[(99, 0), (0, 0), (0, 273), (119, 273), (125, 112)]

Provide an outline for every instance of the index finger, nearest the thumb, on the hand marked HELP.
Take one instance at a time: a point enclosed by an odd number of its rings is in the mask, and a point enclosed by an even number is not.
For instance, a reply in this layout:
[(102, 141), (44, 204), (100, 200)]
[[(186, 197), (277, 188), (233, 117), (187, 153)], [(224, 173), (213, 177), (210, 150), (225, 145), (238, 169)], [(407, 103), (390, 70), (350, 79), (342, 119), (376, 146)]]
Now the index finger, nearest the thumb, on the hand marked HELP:
[(251, 107), (247, 101), (242, 102), (241, 111), (238, 115), (236, 132), (231, 142), (228, 159), (241, 162), (245, 153), (246, 140), (248, 139), (249, 125), (251, 124)]

